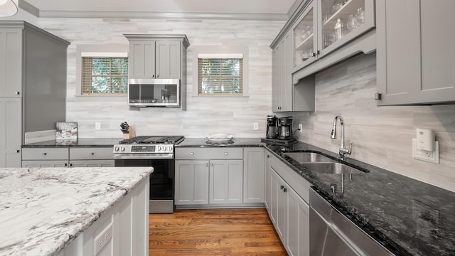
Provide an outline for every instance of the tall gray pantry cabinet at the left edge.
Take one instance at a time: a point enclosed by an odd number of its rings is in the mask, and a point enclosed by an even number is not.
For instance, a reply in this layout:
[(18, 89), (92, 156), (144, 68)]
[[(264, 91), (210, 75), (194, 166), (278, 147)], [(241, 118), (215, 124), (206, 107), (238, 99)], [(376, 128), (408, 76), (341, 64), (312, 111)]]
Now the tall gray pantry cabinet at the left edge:
[(69, 44), (25, 21), (0, 21), (0, 167), (21, 166), (27, 132), (65, 121)]

